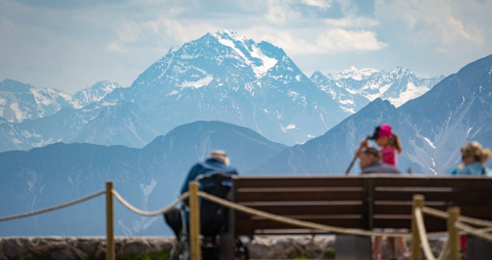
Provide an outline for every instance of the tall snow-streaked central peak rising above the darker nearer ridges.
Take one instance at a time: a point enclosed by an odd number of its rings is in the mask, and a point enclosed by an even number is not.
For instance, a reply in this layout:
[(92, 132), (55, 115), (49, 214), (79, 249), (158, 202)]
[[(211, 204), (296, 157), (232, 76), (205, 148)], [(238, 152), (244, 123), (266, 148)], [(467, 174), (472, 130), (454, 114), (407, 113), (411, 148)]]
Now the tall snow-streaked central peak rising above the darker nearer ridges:
[[(157, 116), (155, 125), (162, 132), (191, 120), (219, 120), (284, 144), (326, 132), (346, 115), (282, 49), (227, 30), (169, 51), (139, 75), (123, 98)], [(174, 117), (169, 112), (175, 110), (188, 116)], [(315, 128), (318, 132), (310, 130)]]

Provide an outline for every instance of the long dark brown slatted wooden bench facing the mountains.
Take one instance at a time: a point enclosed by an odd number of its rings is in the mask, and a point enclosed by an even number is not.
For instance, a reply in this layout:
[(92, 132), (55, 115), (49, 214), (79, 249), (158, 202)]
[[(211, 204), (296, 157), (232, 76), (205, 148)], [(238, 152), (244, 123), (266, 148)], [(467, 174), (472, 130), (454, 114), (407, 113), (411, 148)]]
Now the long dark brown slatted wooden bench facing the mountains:
[[(335, 227), (410, 229), (414, 194), (425, 196), (425, 206), (443, 211), (450, 206), (459, 206), (462, 216), (492, 220), (492, 178), (489, 177), (419, 174), (237, 176), (233, 180), (233, 189), (233, 201), (240, 205)], [(433, 216), (425, 216), (424, 220), (427, 232), (446, 231), (446, 220)], [(229, 230), (233, 237), (327, 233), (238, 211), (231, 212)], [(363, 239), (369, 241), (370, 250), (370, 238)]]

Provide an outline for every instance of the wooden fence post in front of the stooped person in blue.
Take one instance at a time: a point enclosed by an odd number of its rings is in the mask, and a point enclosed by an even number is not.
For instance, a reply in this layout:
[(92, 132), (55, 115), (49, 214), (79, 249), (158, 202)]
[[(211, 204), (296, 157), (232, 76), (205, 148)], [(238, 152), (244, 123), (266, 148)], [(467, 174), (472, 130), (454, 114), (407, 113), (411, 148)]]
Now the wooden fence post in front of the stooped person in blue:
[(200, 248), (200, 207), (198, 201), (197, 182), (188, 182), (190, 191), (190, 252), (191, 260), (200, 260), (202, 250)]

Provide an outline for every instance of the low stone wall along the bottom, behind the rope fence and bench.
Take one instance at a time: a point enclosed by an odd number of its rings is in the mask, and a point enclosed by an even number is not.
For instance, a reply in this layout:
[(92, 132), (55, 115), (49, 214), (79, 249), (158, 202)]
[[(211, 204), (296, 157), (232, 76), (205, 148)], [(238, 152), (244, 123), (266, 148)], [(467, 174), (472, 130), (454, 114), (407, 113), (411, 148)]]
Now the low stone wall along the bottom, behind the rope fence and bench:
[[(442, 241), (431, 241), (436, 254)], [(116, 237), (118, 254), (143, 254), (168, 251), (173, 237)], [(101, 259), (105, 237), (4, 237), (0, 238), (0, 259)], [(252, 259), (333, 259), (335, 236), (257, 236), (249, 244)], [(383, 245), (383, 257), (387, 250)]]

